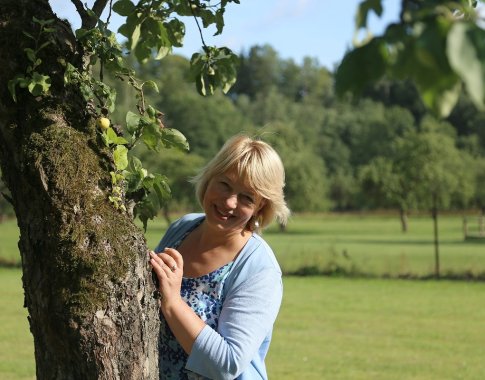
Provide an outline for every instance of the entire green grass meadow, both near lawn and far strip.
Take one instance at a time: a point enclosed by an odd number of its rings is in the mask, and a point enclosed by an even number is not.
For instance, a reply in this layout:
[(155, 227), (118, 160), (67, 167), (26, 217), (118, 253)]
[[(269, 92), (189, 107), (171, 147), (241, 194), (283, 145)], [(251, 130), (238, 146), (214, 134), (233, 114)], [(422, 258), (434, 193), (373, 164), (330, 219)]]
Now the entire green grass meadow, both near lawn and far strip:
[[(461, 227), (440, 219), (442, 273), (482, 274), (485, 244)], [(165, 228), (149, 224), (150, 247)], [(485, 282), (397, 279), (432, 274), (431, 218), (412, 217), (403, 234), (393, 215), (296, 215), (264, 237), (285, 273), (330, 275), (284, 277), (270, 378), (483, 379)], [(17, 239), (14, 221), (0, 224), (4, 263), (18, 262)], [(0, 378), (33, 379), (19, 268), (0, 268), (0, 300)]]

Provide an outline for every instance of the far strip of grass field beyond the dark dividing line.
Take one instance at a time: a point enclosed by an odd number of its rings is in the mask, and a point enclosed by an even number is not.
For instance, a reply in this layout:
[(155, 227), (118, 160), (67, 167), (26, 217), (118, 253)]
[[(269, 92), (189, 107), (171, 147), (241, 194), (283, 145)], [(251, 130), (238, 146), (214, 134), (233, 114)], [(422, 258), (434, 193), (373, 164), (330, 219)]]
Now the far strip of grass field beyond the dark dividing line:
[[(432, 220), (409, 219), (402, 233), (394, 215), (296, 215), (286, 233), (277, 226), (264, 232), (285, 273), (334, 273), (381, 277), (425, 277), (434, 272)], [(149, 222), (146, 238), (154, 248), (166, 229)], [(461, 216), (439, 219), (443, 275), (485, 276), (485, 239), (464, 241)], [(0, 261), (19, 262), (14, 221), (0, 224)]]

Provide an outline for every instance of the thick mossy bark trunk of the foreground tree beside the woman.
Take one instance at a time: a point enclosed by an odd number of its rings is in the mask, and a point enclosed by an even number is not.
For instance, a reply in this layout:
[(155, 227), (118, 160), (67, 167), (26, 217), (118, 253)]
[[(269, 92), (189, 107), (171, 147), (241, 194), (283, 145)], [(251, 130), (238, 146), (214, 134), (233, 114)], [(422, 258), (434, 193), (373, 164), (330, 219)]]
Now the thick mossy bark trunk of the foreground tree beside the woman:
[(0, 164), (20, 229), (37, 378), (157, 379), (147, 247), (109, 203), (110, 154), (79, 90), (63, 84), (59, 60), (80, 61), (69, 26), (56, 19), (55, 43), (40, 56), (50, 94), (17, 88), (14, 103), (7, 89), (29, 64), (32, 16), (55, 18), (47, 0), (0, 3)]

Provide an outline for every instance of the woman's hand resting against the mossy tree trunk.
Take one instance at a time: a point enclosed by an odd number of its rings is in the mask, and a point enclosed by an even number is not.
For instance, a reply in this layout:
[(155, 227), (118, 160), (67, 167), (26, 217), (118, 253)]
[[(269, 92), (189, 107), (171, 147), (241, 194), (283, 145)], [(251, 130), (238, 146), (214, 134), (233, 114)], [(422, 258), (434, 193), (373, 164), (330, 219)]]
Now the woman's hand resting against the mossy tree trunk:
[(184, 268), (180, 252), (173, 248), (165, 248), (159, 254), (150, 251), (150, 264), (158, 277), (162, 307), (180, 300)]

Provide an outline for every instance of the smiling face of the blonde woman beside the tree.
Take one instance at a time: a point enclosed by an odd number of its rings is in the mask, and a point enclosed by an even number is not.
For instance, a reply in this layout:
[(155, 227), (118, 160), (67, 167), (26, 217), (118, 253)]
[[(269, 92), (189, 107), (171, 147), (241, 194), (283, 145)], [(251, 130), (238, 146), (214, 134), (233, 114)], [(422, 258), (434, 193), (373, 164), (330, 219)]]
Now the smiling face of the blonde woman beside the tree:
[(212, 178), (203, 199), (206, 221), (227, 232), (242, 232), (263, 205), (262, 198), (234, 170)]

